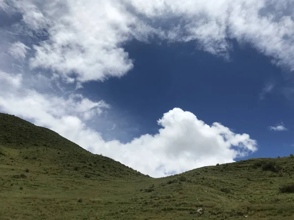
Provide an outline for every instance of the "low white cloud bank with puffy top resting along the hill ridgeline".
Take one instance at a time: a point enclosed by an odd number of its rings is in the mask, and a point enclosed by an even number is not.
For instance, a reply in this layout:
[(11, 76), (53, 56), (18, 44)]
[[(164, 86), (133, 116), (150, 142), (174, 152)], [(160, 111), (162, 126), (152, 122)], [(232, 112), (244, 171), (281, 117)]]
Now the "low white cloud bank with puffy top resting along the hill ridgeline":
[(126, 144), (107, 142), (85, 124), (85, 114), (91, 117), (108, 108), (104, 102), (92, 102), (81, 95), (62, 98), (19, 89), (16, 92), (10, 88), (5, 97), (0, 95), (0, 111), (48, 127), (93, 153), (114, 158), (150, 176), (233, 162), (257, 150), (256, 141), (248, 134), (236, 134), (220, 123), (209, 126), (193, 113), (178, 108), (158, 120), (162, 128), (155, 135), (145, 134)]

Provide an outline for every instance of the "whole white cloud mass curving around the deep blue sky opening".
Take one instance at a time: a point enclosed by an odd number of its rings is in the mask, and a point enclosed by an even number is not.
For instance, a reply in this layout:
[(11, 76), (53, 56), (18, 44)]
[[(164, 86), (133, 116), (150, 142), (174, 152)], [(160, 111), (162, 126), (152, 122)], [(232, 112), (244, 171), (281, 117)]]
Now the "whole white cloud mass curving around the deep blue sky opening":
[(107, 100), (69, 88), (127, 74), (136, 64), (124, 49), (132, 40), (195, 42), (228, 61), (235, 40), (292, 71), (293, 8), (292, 0), (2, 0), (0, 110), (151, 176), (231, 162), (256, 151), (256, 142), (177, 108), (153, 136), (106, 142), (88, 122), (107, 112)]

